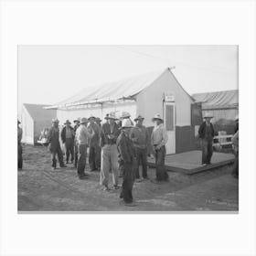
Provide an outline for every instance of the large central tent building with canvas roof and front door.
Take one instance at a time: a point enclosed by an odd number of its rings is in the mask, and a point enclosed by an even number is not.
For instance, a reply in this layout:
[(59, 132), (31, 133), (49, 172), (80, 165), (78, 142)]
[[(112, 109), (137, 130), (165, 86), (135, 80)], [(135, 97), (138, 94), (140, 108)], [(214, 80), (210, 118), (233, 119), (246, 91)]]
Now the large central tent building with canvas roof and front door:
[(57, 109), (60, 123), (91, 114), (103, 119), (109, 112), (116, 112), (118, 116), (126, 111), (132, 118), (137, 114), (144, 116), (144, 125), (151, 130), (152, 117), (160, 113), (169, 137), (167, 154), (175, 154), (195, 147), (194, 126), (201, 122), (201, 116), (200, 112), (196, 119), (192, 115), (194, 105), (193, 98), (167, 68), (84, 89), (48, 109)]

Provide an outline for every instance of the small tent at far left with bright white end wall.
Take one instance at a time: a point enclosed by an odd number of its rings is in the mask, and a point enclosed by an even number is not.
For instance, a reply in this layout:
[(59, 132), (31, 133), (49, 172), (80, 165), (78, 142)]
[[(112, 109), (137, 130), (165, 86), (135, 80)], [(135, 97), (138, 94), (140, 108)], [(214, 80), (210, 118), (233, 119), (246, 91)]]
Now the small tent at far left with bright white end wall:
[(48, 105), (23, 104), (21, 110), (22, 143), (37, 144), (38, 137), (45, 127), (51, 126), (56, 118), (56, 110), (46, 110)]

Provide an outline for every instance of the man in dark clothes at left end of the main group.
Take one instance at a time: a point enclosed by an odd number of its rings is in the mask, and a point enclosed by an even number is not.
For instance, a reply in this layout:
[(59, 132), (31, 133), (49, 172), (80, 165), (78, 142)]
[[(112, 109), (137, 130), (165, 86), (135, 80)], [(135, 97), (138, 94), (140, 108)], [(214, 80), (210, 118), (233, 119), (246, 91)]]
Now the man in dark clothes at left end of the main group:
[(63, 163), (63, 155), (59, 144), (59, 120), (53, 119), (52, 120), (52, 127), (48, 133), (48, 143), (49, 143), (49, 150), (51, 153), (51, 161), (52, 161), (52, 168), (56, 169), (57, 161), (56, 155), (58, 155), (59, 166), (66, 167)]

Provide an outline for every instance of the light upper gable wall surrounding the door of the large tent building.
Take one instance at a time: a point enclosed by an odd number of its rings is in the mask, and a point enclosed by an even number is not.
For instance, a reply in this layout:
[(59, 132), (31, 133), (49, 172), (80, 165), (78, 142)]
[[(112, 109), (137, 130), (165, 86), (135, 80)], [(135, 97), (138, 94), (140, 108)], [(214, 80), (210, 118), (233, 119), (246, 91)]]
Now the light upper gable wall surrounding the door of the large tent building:
[(152, 126), (152, 117), (155, 113), (164, 114), (164, 95), (172, 93), (176, 103), (176, 125), (185, 126), (191, 124), (191, 98), (178, 84), (170, 71), (165, 71), (155, 82), (139, 93), (136, 97), (137, 113), (144, 116), (144, 124)]

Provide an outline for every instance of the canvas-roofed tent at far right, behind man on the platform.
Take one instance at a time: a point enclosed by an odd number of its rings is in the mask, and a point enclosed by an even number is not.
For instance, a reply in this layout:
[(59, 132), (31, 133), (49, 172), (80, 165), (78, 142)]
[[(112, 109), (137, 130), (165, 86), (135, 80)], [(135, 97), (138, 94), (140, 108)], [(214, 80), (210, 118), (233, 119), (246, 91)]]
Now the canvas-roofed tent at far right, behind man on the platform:
[(233, 121), (239, 112), (238, 90), (196, 93), (192, 97), (201, 102), (203, 114), (213, 114), (213, 123), (219, 120)]

